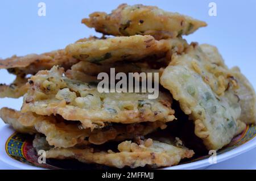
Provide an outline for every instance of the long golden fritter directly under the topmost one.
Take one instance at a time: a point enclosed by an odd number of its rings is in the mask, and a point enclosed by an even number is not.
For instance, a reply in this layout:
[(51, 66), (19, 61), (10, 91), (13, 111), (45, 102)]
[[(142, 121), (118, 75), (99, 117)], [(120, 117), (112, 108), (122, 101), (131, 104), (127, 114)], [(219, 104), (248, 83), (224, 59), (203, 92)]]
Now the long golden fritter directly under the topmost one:
[(182, 52), (187, 42), (183, 39), (155, 40), (150, 35), (112, 37), (70, 44), (66, 47), (69, 56), (94, 64), (115, 61), (136, 61), (145, 57), (164, 57), (169, 49)]

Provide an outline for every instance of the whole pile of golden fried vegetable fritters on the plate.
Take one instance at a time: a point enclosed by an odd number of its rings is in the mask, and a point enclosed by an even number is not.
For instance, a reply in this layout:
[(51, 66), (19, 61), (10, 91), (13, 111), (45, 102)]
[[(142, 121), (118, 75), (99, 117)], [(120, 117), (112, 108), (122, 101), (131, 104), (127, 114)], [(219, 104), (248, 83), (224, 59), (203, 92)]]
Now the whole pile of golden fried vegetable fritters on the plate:
[[(255, 122), (255, 92), (240, 70), (228, 69), (215, 47), (181, 37), (205, 22), (123, 4), (111, 14), (94, 12), (82, 23), (104, 36), (0, 60), (0, 68), (16, 75), (11, 85), (0, 86), (0, 96), (24, 96), (20, 111), (2, 108), (1, 118), (18, 132), (35, 134), (34, 147), (46, 150), (47, 158), (118, 168), (177, 165), (194, 151), (171, 133), (159, 136), (170, 122), (180, 121), (172, 99), (208, 150), (221, 149)], [(110, 68), (158, 72), (158, 98), (98, 92), (97, 75), (110, 74)]]

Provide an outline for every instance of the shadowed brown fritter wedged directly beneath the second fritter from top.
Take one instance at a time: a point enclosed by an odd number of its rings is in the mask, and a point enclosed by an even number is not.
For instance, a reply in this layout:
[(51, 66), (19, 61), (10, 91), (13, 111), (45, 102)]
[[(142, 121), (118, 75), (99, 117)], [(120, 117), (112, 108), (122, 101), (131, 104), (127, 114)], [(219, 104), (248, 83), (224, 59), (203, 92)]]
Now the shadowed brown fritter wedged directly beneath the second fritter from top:
[[(162, 72), (162, 68), (168, 65), (169, 58), (173, 53), (182, 53), (188, 44), (183, 39), (170, 39), (164, 42), (168, 52), (166, 57), (157, 59), (156, 57), (144, 58), (138, 62), (119, 61), (111, 64), (94, 64), (89, 61), (80, 61), (73, 65), (71, 69), (65, 72), (69, 79), (75, 79), (82, 82), (97, 82), (97, 75), (101, 72), (110, 74), (110, 68), (115, 68), (115, 73), (154, 73)], [(148, 74), (147, 74), (148, 76)]]

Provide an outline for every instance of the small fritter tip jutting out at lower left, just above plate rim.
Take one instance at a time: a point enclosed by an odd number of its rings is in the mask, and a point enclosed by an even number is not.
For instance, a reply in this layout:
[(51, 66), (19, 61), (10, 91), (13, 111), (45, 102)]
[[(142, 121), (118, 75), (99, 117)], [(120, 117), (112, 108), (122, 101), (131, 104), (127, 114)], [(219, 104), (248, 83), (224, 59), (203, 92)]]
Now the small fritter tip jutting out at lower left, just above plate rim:
[(20, 133), (28, 133), (28, 134), (34, 134), (36, 133), (36, 130), (34, 127), (30, 126), (24, 126), (19, 123), (18, 119), (22, 115), (19, 111), (12, 110), (10, 108), (3, 107), (0, 110), (0, 117), (1, 119), (6, 123), (11, 125), (15, 129), (15, 131), (18, 131)]

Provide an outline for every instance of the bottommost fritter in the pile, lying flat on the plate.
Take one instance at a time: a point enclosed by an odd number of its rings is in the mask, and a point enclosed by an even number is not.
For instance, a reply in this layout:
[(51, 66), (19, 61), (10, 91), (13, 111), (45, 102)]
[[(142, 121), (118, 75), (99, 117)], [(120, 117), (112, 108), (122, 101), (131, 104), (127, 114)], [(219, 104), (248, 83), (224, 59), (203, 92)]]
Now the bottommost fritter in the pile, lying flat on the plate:
[[(34, 148), (43, 149), (38, 143), (43, 142), (43, 138), (36, 138), (33, 141)], [(68, 148), (68, 149), (49, 149), (46, 151), (47, 158), (75, 158), (84, 163), (98, 163), (101, 165), (123, 168), (129, 166), (131, 168), (143, 166), (172, 166), (177, 165), (183, 158), (191, 158), (193, 150), (186, 148), (177, 148), (169, 144), (159, 141), (147, 139), (141, 145), (131, 141), (124, 141), (118, 145), (118, 152), (112, 150), (97, 151), (92, 147), (84, 149)]]

